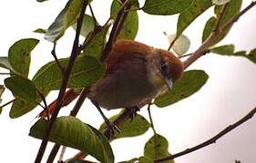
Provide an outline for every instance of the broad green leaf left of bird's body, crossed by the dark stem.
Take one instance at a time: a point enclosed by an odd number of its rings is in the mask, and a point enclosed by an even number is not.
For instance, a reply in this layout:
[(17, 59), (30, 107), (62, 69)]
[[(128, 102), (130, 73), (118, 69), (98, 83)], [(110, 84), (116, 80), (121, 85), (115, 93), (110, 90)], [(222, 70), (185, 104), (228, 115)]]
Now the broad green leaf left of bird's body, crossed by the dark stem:
[[(67, 66), (68, 59), (60, 59), (62, 67)], [(105, 65), (93, 57), (79, 56), (74, 64), (68, 88), (88, 87), (96, 82), (105, 72)], [(56, 62), (48, 62), (44, 65), (33, 78), (36, 88), (44, 93), (58, 90), (62, 82), (62, 72)]]

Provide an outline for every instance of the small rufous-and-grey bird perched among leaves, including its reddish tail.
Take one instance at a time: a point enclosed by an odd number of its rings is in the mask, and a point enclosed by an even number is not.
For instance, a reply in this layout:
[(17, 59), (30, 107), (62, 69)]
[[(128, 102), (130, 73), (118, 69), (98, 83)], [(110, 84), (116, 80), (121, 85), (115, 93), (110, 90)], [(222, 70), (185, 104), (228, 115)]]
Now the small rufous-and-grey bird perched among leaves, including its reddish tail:
[[(88, 88), (87, 98), (97, 109), (142, 108), (170, 91), (183, 73), (183, 64), (174, 53), (131, 40), (114, 43), (106, 64), (105, 74)], [(77, 95), (68, 90), (63, 105)], [(48, 112), (53, 112), (55, 103), (49, 105)], [(46, 117), (46, 110), (40, 116)]]

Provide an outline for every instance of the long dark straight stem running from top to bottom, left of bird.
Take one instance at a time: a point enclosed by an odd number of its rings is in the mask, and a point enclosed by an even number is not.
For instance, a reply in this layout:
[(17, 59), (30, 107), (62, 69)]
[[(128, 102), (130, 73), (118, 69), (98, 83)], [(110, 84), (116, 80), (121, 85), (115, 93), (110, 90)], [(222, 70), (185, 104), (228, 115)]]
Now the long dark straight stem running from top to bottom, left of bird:
[(60, 88), (60, 91), (59, 91), (59, 94), (57, 97), (57, 101), (56, 101), (56, 110), (54, 110), (53, 115), (52, 115), (51, 119), (49, 120), (49, 123), (48, 123), (47, 129), (46, 129), (45, 135), (43, 137), (41, 146), (37, 152), (37, 156), (36, 156), (36, 160), (35, 160), (36, 163), (40, 163), (44, 156), (51, 130), (56, 121), (57, 114), (62, 107), (63, 97), (64, 97), (65, 91), (67, 89), (67, 82), (69, 81), (69, 77), (72, 72), (74, 62), (77, 59), (77, 55), (79, 53), (79, 51), (78, 51), (79, 34), (81, 31), (81, 26), (83, 23), (84, 14), (86, 12), (87, 4), (88, 4), (87, 0), (83, 1), (82, 9), (81, 9), (80, 15), (77, 19), (77, 31), (76, 31), (76, 37), (75, 37), (75, 40), (73, 43), (72, 52), (71, 52), (70, 59), (69, 59), (68, 65), (67, 65), (67, 69), (65, 70), (65, 73), (63, 75), (61, 88)]

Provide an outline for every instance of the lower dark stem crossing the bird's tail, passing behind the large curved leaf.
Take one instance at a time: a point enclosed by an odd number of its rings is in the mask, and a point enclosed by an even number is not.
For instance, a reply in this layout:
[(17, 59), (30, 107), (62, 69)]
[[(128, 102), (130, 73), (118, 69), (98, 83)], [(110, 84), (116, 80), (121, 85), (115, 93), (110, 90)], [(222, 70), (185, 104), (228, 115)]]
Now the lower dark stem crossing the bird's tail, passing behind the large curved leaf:
[[(78, 100), (77, 100), (73, 110), (70, 111), (69, 116), (73, 116), (73, 117), (77, 116), (78, 110), (80, 110), (82, 104), (84, 103), (84, 101), (87, 98), (87, 92), (88, 92), (88, 90), (86, 88), (84, 88), (81, 91), (80, 96), (79, 96), (79, 98), (78, 98)], [(54, 159), (56, 158), (56, 154), (57, 154), (59, 148), (60, 148), (60, 145), (58, 145), (58, 144), (54, 145), (53, 149), (51, 150), (51, 152), (49, 154), (49, 157), (47, 158), (46, 163), (51, 163), (51, 162), (54, 161)]]

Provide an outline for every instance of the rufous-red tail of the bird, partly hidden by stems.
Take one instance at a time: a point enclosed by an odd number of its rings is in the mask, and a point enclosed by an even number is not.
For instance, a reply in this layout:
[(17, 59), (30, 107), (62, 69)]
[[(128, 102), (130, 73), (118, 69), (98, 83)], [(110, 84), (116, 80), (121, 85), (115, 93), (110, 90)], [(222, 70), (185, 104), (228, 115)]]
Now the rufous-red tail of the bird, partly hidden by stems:
[[(63, 98), (63, 103), (62, 103), (62, 107), (67, 106), (69, 103), (71, 103), (72, 101), (74, 101), (77, 96), (80, 94), (81, 90), (77, 89), (69, 89), (65, 92), (64, 94), (64, 98)], [(56, 101), (53, 101), (52, 103), (50, 103), (47, 107), (46, 110), (43, 110), (40, 112), (40, 114), (37, 117), (40, 118), (46, 118), (47, 116), (51, 116), (52, 113), (54, 112), (54, 110), (56, 110)]]

